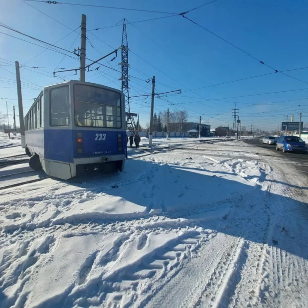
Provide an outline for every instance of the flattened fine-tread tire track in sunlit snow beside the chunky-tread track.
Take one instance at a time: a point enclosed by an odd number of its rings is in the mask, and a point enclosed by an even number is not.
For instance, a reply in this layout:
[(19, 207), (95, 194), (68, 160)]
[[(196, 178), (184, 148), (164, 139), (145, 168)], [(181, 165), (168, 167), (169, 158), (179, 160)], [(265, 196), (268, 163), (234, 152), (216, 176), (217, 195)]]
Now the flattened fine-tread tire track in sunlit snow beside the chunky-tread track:
[(243, 245), (239, 238), (218, 233), (200, 249), (195, 258), (187, 260), (173, 279), (160, 286), (159, 293), (148, 298), (148, 303), (140, 307), (200, 306), (202, 299), (215, 290), (214, 281), (219, 278), (221, 271), (226, 273), (239, 245)]

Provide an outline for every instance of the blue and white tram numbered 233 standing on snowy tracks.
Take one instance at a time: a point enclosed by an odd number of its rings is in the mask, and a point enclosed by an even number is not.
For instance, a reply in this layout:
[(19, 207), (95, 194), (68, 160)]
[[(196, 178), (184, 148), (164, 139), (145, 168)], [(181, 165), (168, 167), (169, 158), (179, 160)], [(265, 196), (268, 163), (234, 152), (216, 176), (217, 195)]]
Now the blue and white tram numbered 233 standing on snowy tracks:
[(44, 87), (25, 116), (29, 165), (68, 179), (79, 170), (124, 169), (127, 153), (123, 92), (71, 80)]

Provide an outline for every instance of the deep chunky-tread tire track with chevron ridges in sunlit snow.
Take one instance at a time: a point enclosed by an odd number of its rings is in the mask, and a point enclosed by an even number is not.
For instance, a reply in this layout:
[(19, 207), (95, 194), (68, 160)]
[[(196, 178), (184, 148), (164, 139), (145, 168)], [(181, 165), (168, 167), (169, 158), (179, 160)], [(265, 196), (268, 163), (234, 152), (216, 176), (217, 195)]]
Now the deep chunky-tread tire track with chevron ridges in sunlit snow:
[[(187, 235), (182, 235), (172, 245), (159, 248), (152, 256), (147, 256), (142, 263), (129, 266), (125, 269), (124, 275), (119, 273), (113, 277), (104, 305), (113, 307), (115, 302), (120, 303), (129, 297), (134, 299), (132, 300), (134, 303), (131, 302), (130, 307), (142, 307), (143, 303), (148, 302), (149, 296), (152, 297), (153, 293), (160, 290), (161, 280), (169, 281), (180, 271), (181, 263), (186, 259), (187, 253), (198, 250), (200, 242), (206, 238), (207, 235), (200, 235), (197, 231), (189, 232)], [(141, 235), (137, 249), (144, 246), (144, 243), (140, 246), (140, 242), (144, 242), (146, 239), (148, 237)], [(115, 305), (115, 307), (118, 306)], [(122, 306), (119, 304), (119, 307)]]

